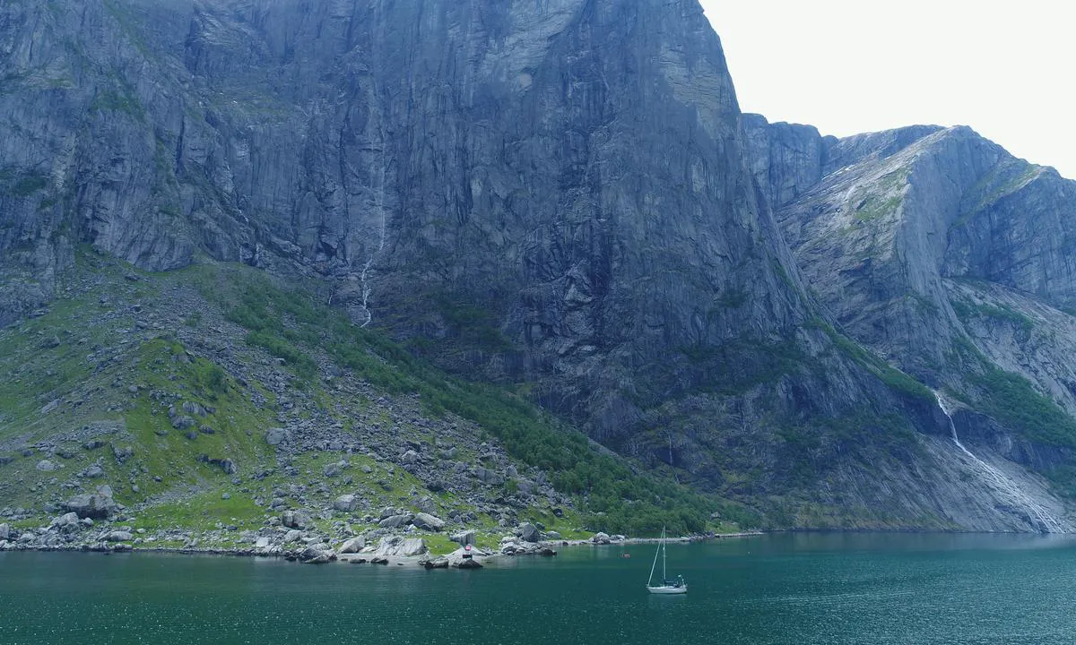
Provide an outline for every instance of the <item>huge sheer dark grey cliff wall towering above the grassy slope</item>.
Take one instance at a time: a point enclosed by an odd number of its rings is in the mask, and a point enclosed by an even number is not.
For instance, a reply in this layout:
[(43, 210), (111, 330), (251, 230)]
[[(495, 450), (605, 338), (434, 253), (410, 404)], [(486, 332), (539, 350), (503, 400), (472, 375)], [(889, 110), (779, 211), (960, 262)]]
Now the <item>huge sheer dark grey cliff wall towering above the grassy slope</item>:
[(809, 318), (693, 1), (31, 2), (4, 25), (2, 244), (32, 275), (82, 241), (321, 273), (444, 364), (552, 375), (599, 433), (712, 377), (697, 349)]

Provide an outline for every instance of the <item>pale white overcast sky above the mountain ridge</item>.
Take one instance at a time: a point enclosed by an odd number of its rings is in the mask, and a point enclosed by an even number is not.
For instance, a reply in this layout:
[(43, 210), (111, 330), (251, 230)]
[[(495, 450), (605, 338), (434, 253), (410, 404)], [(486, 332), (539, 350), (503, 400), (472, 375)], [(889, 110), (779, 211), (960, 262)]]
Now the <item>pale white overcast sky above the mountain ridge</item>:
[(702, 3), (745, 112), (838, 137), (967, 125), (1076, 178), (1076, 2)]

